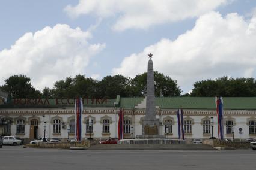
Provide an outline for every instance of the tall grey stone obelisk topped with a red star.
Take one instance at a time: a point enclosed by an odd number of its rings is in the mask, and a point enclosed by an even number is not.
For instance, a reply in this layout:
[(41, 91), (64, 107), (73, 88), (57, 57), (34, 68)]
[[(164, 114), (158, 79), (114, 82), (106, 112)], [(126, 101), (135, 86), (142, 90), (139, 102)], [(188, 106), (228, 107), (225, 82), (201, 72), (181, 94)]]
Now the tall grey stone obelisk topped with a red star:
[(156, 119), (156, 105), (154, 103), (154, 68), (152, 56), (148, 54), (148, 72), (147, 72), (147, 99), (146, 115), (142, 125), (143, 135), (159, 135), (159, 119)]

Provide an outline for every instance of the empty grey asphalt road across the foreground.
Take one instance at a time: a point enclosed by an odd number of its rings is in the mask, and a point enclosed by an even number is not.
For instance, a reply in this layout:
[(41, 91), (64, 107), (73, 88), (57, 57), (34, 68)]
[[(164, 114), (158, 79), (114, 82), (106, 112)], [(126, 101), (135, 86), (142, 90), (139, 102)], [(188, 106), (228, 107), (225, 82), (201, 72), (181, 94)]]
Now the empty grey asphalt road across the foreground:
[(3, 146), (0, 169), (256, 169), (256, 151), (62, 150)]

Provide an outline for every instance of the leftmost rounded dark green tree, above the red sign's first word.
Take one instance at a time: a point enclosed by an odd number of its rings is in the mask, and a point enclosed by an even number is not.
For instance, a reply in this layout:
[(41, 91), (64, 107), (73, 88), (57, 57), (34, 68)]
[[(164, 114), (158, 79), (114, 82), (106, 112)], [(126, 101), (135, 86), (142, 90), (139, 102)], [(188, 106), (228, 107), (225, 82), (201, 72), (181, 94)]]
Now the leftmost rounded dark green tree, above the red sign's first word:
[(2, 89), (10, 93), (11, 98), (41, 98), (39, 90), (35, 90), (30, 78), (25, 75), (13, 75), (5, 80)]

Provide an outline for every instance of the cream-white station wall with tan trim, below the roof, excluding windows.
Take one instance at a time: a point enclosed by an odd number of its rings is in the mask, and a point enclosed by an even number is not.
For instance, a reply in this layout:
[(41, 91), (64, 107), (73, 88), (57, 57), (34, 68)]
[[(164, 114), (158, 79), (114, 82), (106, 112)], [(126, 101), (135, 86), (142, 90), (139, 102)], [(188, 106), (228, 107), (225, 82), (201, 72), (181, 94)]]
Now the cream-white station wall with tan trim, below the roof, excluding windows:
[[(175, 115), (176, 110), (165, 110), (165, 111), (157, 111), (157, 119), (160, 122), (163, 122), (162, 125), (159, 126), (160, 135), (165, 134), (165, 125), (164, 120), (171, 119), (173, 120), (172, 124), (172, 133), (168, 136), (169, 138), (178, 138), (178, 123), (177, 116)], [(212, 136), (212, 128), (210, 128), (210, 134), (203, 134), (203, 125), (202, 121), (204, 119), (210, 119), (210, 117), (214, 118), (214, 127), (213, 127), (213, 136), (218, 138), (218, 123), (217, 117), (214, 110), (185, 110), (184, 112), (184, 120), (189, 119), (192, 120), (192, 133), (185, 134), (186, 139), (192, 138), (210, 138)], [(67, 138), (67, 124), (70, 117), (73, 116), (73, 108), (20, 108), (20, 109), (1, 109), (0, 116), (6, 117), (12, 120), (11, 124), (11, 135), (19, 136), (21, 138), (29, 138), (29, 129), (30, 122), (29, 120), (37, 117), (40, 120), (38, 125), (38, 136), (44, 136), (44, 122), (46, 122), (46, 136), (48, 138)], [(117, 134), (117, 121), (118, 114), (117, 108), (85, 108), (82, 114), (82, 138), (88, 138), (89, 134), (85, 133), (85, 117), (91, 116), (93, 117), (94, 122), (93, 125), (93, 133), (91, 136), (93, 138), (116, 138)], [(134, 127), (133, 137), (136, 135), (142, 135), (142, 119), (145, 116), (145, 110), (134, 110), (127, 109), (124, 110), (124, 117), (132, 120), (131, 126)], [(59, 135), (53, 134), (53, 124), (52, 119), (54, 117), (61, 118), (61, 133)], [(111, 120), (110, 123), (110, 133), (102, 133), (102, 120), (104, 117), (108, 117)], [(16, 133), (16, 120), (19, 118), (25, 119), (25, 133), (23, 135)], [(256, 120), (255, 111), (225, 111), (224, 112), (224, 132), (225, 138), (233, 138), (233, 135), (227, 135), (225, 129), (225, 120), (233, 120), (234, 122), (234, 138), (255, 138), (255, 135), (249, 135), (249, 120)], [(239, 128), (242, 128), (242, 134), (239, 134)], [(126, 138), (130, 138), (131, 135), (124, 135)], [(70, 138), (74, 138), (73, 134), (70, 134)]]

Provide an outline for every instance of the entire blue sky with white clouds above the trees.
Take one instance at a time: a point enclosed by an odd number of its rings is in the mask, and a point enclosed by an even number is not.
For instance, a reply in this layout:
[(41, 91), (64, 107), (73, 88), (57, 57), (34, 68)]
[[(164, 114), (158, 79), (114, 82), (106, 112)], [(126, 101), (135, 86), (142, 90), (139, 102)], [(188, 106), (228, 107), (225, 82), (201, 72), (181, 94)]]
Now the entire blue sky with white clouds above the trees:
[(154, 70), (177, 80), (256, 77), (255, 0), (0, 1), (0, 85)]

